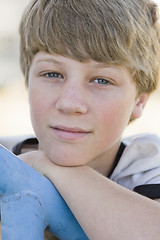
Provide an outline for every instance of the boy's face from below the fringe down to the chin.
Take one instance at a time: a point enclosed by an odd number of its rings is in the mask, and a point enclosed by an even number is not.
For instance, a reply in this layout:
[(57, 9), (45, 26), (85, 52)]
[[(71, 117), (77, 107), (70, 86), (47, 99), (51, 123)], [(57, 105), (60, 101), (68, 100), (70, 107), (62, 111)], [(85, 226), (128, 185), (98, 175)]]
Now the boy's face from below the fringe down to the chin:
[(40, 147), (65, 166), (107, 161), (111, 152), (115, 156), (130, 117), (140, 108), (126, 68), (42, 52), (30, 68), (29, 101)]

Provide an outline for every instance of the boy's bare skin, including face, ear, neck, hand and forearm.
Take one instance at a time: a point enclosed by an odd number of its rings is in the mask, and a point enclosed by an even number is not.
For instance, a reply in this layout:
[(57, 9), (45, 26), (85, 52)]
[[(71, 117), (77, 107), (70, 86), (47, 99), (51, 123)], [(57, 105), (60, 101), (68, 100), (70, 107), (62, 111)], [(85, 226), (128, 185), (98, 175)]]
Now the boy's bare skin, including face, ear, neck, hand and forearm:
[(137, 97), (124, 67), (42, 52), (33, 59), (29, 101), (40, 148), (20, 158), (54, 183), (90, 240), (159, 240), (160, 205), (106, 177), (147, 98)]

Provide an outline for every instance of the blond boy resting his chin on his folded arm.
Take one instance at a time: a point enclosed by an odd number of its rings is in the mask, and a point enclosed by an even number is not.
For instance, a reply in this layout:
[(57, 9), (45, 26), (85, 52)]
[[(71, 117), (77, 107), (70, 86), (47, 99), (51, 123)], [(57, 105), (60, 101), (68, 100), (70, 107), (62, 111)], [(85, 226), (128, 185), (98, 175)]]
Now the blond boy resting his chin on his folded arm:
[(121, 142), (158, 85), (156, 4), (37, 0), (20, 35), (39, 142), (20, 158), (53, 182), (90, 240), (158, 240), (160, 140)]

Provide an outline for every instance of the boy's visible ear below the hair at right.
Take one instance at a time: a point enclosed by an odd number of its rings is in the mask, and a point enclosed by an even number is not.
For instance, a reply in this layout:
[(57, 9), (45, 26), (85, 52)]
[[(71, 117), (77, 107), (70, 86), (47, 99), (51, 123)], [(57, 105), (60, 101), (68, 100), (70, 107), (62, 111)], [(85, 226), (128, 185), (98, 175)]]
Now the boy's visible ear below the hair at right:
[(136, 98), (135, 106), (132, 112), (132, 118), (136, 119), (142, 116), (143, 109), (149, 98), (148, 93), (142, 93)]

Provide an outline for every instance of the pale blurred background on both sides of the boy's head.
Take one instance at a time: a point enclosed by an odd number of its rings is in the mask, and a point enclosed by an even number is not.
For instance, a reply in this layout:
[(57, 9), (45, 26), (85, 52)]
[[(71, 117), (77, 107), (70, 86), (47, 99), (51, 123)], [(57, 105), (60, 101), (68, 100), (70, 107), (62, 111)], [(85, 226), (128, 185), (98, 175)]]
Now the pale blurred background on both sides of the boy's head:
[[(19, 67), (18, 25), (29, 0), (0, 0), (0, 136), (32, 134), (27, 89)], [(160, 3), (160, 0), (156, 2)], [(160, 88), (124, 135), (160, 135)]]

